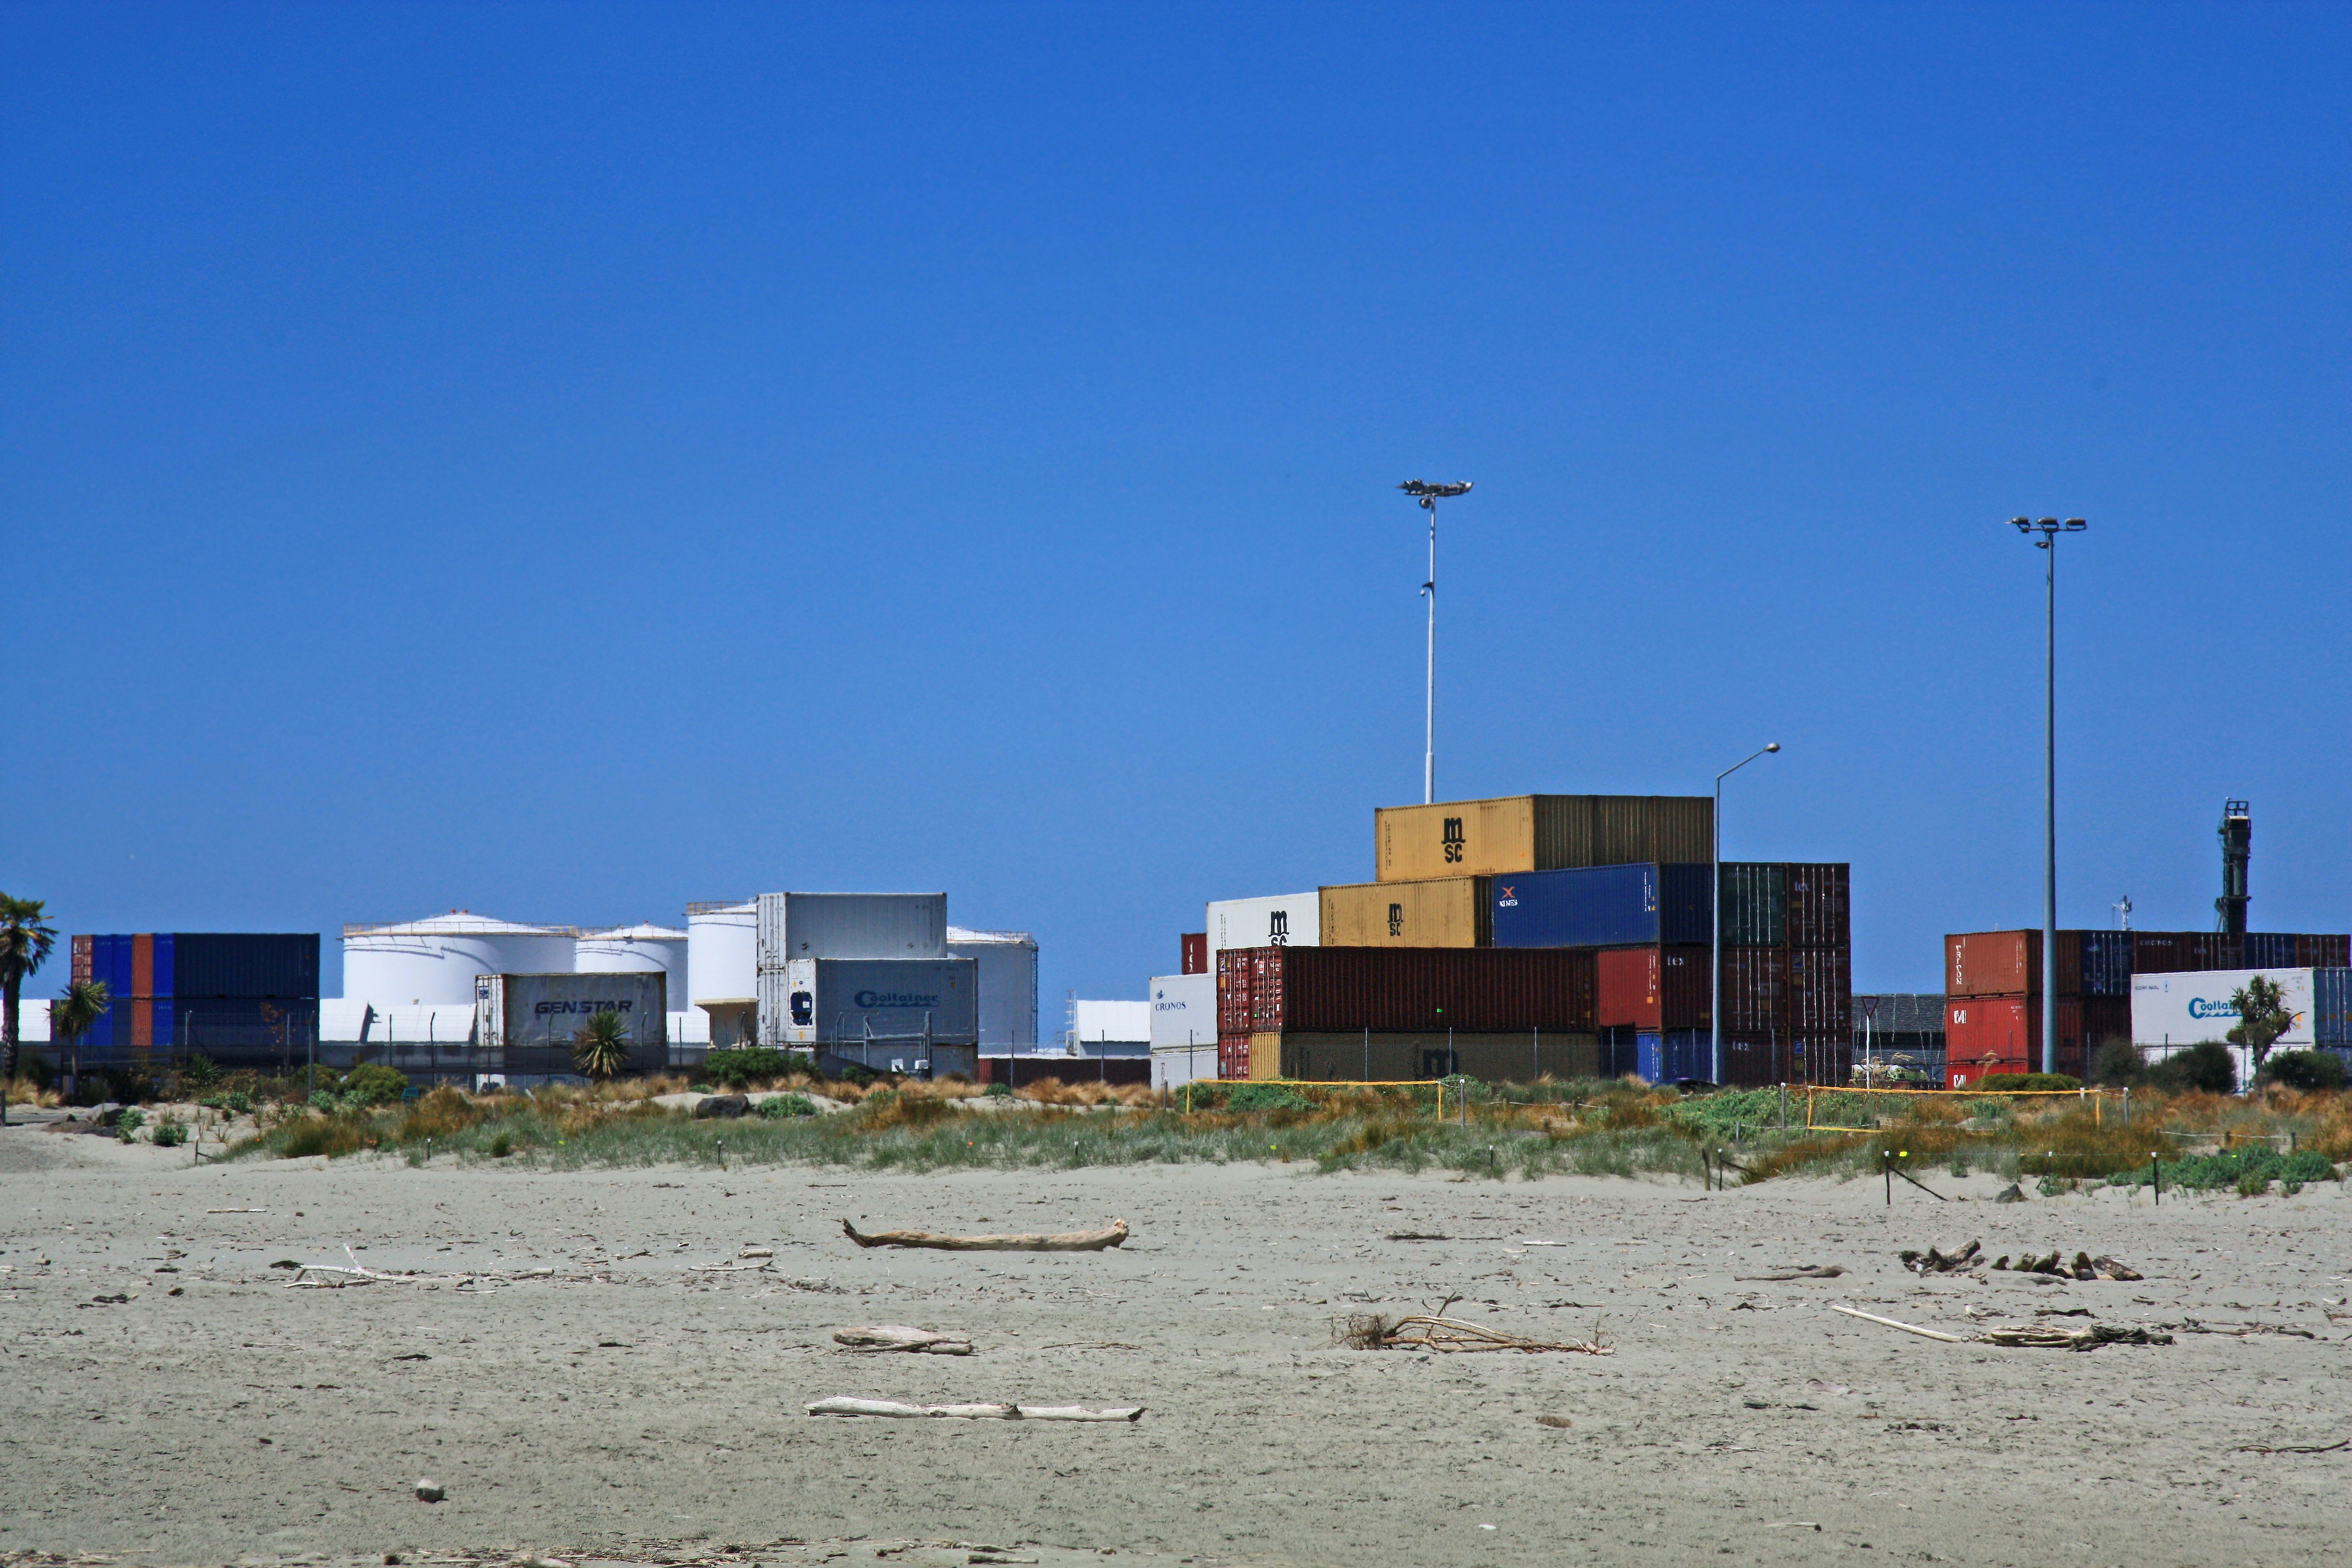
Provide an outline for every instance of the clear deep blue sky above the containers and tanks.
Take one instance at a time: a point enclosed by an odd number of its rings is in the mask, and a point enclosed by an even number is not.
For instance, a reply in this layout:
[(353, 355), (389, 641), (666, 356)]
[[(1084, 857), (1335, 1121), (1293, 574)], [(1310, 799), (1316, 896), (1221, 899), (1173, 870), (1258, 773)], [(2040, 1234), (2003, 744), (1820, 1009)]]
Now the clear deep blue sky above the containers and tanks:
[[(1418, 799), (1703, 792), (1853, 978), (2352, 929), (2340, 7), (0, 14), (0, 886), (948, 889), (1044, 1013)], [(329, 987), (336, 950), (329, 952)], [(54, 992), (61, 966), (35, 992)]]

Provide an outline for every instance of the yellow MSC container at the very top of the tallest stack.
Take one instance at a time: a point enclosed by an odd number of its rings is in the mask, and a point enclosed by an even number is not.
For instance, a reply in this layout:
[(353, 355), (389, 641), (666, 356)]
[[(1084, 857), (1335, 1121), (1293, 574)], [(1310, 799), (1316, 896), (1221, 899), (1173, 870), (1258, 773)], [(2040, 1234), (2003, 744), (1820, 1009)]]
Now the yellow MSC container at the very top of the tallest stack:
[(1381, 882), (1705, 860), (1715, 853), (1715, 802), (1705, 795), (1505, 795), (1383, 806), (1371, 816), (1374, 875)]

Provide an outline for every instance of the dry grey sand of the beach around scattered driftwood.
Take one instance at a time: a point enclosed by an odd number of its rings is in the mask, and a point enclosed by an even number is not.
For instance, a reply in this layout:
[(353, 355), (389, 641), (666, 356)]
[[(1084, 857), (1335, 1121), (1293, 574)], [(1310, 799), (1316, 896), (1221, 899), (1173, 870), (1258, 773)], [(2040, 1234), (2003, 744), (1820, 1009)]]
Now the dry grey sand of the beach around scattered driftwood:
[[(1987, 1178), (1463, 1182), (1310, 1166), (191, 1168), (0, 1133), (0, 1559), (713, 1556), (1042, 1563), (2340, 1563), (2352, 1204), (1994, 1206)], [(209, 1213), (216, 1208), (259, 1213)], [(1098, 1255), (858, 1251), (861, 1227), (1070, 1229)], [(1439, 1232), (1449, 1241), (1390, 1241)], [(2140, 1284), (1929, 1279), (1903, 1246), (2112, 1253)], [(1536, 1246), (1552, 1241), (1557, 1246)], [(550, 1276), (289, 1291), (278, 1260)], [(746, 1246), (741, 1272), (699, 1272)], [(1773, 1265), (1832, 1281), (1755, 1284)], [(172, 1291), (181, 1291), (174, 1295)], [(1336, 1349), (1444, 1295), (1616, 1354)], [(99, 1302), (129, 1295), (127, 1302)], [(2091, 1354), (1938, 1345), (2089, 1307), (2180, 1333)], [(2338, 1316), (2331, 1319), (2331, 1312)], [(2082, 1321), (2082, 1319), (2051, 1319)], [(847, 1324), (978, 1354), (851, 1356)], [(2303, 1333), (2314, 1338), (2300, 1338)], [(811, 1420), (809, 1399), (1141, 1403), (1136, 1425)], [(1538, 1425), (1538, 1415), (1573, 1422)], [(412, 1497), (419, 1476), (449, 1497)], [(1816, 1530), (1818, 1526), (1818, 1530)], [(790, 1540), (814, 1547), (783, 1544)], [(1016, 1544), (1042, 1542), (1042, 1544)]]

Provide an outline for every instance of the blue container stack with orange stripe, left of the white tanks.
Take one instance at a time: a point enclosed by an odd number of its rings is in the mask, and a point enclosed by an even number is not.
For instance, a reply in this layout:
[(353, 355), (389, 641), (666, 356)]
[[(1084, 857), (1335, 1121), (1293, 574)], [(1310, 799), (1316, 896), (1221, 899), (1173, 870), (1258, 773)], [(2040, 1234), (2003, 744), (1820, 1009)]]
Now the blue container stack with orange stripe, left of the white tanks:
[(80, 1039), (85, 1067), (285, 1070), (318, 1039), (318, 933), (141, 931), (75, 936), (73, 980), (103, 980), (108, 1011)]

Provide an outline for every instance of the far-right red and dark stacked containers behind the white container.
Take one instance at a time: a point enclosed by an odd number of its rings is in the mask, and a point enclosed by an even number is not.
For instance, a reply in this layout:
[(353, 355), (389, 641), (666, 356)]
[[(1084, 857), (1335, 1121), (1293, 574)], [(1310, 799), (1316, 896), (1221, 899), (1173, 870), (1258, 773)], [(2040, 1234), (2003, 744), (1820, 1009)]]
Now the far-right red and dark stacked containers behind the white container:
[[(2098, 1048), (2131, 1039), (2131, 976), (2211, 969), (2326, 969), (2352, 938), (2298, 931), (2060, 931), (2058, 1072), (2084, 1077)], [(2042, 933), (1943, 938), (1945, 1081), (2042, 1070)]]

